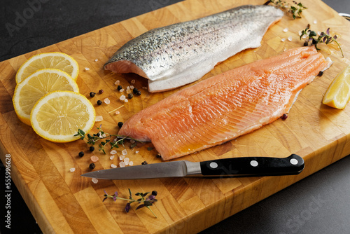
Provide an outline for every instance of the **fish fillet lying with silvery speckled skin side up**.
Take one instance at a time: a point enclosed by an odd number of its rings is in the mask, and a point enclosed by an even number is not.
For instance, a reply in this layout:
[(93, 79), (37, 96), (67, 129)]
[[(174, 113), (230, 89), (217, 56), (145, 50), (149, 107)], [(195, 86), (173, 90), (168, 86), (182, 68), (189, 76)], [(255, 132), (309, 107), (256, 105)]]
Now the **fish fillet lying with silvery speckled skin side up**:
[(104, 69), (148, 78), (160, 92), (199, 80), (216, 64), (260, 46), (283, 12), (274, 6), (239, 6), (188, 22), (151, 29), (119, 48)]

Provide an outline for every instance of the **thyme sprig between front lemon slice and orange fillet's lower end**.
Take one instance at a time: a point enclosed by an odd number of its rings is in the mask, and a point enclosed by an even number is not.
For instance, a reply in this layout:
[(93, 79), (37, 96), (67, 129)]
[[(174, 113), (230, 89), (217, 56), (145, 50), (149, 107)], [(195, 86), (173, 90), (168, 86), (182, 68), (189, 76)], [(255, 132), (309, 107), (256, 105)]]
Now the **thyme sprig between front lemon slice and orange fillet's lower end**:
[[(87, 139), (87, 144), (94, 145), (95, 143), (101, 141), (99, 143), (99, 151), (102, 151), (104, 154), (106, 154), (106, 151), (104, 150), (104, 147), (109, 143), (111, 145), (111, 149), (113, 148), (119, 148), (118, 145), (122, 145), (124, 148), (124, 140), (125, 139), (132, 139), (130, 137), (120, 136), (120, 135), (114, 135), (109, 134), (108, 132), (104, 132), (102, 130), (102, 125), (99, 125), (99, 128), (97, 128), (99, 132), (96, 134), (90, 135), (90, 133), (85, 134), (85, 132), (81, 129), (78, 129), (78, 132), (74, 136), (80, 136), (80, 139), (84, 140)], [(111, 140), (112, 137), (116, 137), (115, 139)], [(120, 139), (118, 139), (120, 138)], [(137, 141), (137, 139), (134, 139), (134, 141)]]

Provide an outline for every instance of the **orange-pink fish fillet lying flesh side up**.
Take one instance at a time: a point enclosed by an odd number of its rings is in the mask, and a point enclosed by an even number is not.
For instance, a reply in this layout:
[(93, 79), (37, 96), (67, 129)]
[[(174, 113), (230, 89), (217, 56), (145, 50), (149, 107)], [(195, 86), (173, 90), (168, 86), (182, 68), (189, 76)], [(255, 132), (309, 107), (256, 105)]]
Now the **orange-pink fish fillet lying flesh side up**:
[(151, 141), (163, 160), (228, 142), (288, 113), (330, 64), (314, 46), (286, 50), (175, 92), (125, 121), (118, 135)]

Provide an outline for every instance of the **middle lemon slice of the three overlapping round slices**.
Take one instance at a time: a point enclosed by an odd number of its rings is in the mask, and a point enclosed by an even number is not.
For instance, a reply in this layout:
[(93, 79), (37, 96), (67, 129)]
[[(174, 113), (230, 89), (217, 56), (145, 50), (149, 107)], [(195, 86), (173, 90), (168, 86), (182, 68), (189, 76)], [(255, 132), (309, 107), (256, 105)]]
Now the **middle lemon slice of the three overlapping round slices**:
[(18, 83), (13, 95), (13, 106), (20, 121), (30, 125), (30, 111), (34, 104), (43, 95), (55, 90), (79, 92), (73, 78), (57, 69), (38, 70)]

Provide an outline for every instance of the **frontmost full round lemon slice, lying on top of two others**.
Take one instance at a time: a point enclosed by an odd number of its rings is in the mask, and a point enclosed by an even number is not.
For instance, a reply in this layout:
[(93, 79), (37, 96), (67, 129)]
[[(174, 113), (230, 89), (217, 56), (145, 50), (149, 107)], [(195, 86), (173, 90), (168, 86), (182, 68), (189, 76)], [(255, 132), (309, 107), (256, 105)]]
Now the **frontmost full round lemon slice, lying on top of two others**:
[(53, 91), (36, 102), (30, 121), (34, 131), (51, 142), (72, 142), (78, 129), (89, 132), (94, 126), (94, 106), (78, 92)]

